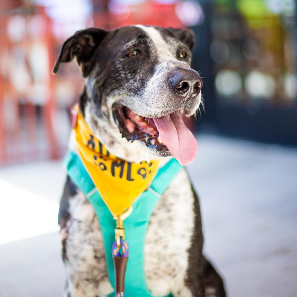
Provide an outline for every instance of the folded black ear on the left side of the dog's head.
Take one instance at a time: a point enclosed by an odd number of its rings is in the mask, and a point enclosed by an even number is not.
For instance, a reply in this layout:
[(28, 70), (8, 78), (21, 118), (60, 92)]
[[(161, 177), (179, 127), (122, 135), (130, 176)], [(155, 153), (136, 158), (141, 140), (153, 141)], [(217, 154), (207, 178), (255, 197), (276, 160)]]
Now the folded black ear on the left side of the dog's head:
[(94, 67), (93, 60), (96, 50), (106, 34), (107, 31), (97, 28), (75, 32), (73, 36), (64, 42), (61, 53), (53, 68), (53, 74), (57, 73), (60, 63), (70, 62), (76, 57), (83, 77), (88, 76)]

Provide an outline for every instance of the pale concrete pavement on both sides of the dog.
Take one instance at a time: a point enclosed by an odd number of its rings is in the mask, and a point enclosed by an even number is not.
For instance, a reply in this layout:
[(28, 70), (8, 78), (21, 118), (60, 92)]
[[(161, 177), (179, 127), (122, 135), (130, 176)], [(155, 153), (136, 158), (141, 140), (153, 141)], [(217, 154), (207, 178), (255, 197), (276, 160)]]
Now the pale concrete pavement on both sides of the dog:
[[(231, 297), (297, 296), (297, 150), (198, 137), (205, 253)], [(0, 296), (62, 296), (61, 161), (0, 168)], [(31, 194), (30, 194), (31, 193)], [(35, 207), (34, 207), (35, 205)]]

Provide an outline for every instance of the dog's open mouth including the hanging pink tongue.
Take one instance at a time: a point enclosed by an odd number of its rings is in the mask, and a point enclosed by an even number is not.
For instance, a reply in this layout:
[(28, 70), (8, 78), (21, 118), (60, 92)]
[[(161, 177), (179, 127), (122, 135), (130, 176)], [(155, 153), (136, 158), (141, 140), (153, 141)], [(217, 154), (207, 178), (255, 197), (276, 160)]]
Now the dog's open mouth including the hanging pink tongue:
[(141, 140), (162, 156), (172, 154), (181, 165), (191, 163), (197, 153), (197, 141), (182, 119), (180, 110), (159, 117), (147, 118), (131, 109), (113, 106), (113, 117), (127, 140)]

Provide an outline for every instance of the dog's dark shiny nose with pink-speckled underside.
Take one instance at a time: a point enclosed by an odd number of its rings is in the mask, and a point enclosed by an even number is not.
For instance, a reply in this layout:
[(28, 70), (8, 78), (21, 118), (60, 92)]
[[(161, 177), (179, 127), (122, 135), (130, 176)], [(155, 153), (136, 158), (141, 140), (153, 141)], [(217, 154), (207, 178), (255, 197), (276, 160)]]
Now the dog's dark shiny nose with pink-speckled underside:
[(193, 93), (199, 94), (202, 87), (202, 79), (198, 72), (193, 69), (174, 70), (169, 78), (169, 83), (179, 93), (187, 93), (192, 89)]

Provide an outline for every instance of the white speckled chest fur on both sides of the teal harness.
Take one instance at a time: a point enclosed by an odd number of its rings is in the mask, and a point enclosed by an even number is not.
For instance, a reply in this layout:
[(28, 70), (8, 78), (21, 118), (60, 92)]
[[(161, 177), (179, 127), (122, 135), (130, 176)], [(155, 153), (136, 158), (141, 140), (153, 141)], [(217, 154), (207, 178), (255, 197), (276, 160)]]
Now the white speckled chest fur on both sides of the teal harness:
[[(80, 192), (71, 199), (66, 265), (73, 280), (91, 279), (94, 294), (110, 293), (102, 234), (93, 207)], [(144, 248), (146, 282), (154, 296), (164, 296), (186, 277), (188, 249), (194, 228), (194, 197), (181, 170), (157, 202)], [(110, 251), (107, 251), (110, 252)]]

